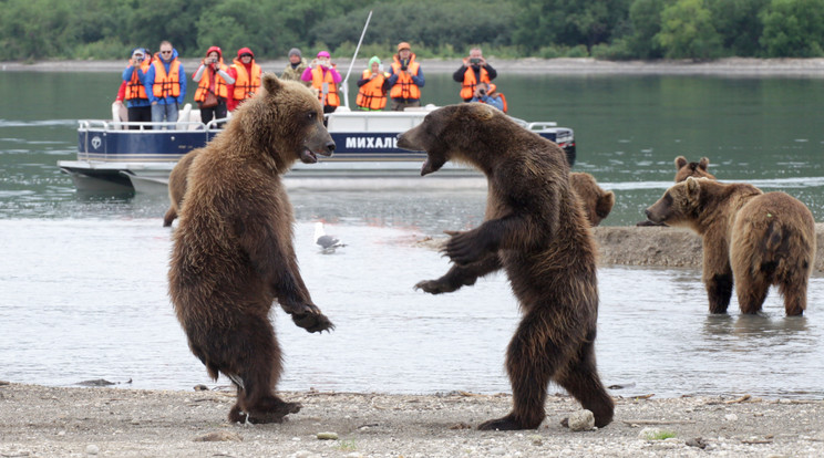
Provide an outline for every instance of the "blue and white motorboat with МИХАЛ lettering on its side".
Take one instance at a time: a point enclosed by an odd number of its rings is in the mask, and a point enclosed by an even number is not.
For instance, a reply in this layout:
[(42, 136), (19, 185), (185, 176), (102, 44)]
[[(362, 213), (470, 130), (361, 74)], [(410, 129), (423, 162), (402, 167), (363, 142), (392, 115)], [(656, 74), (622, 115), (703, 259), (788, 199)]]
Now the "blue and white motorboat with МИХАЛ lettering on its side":
[[(434, 105), (403, 112), (351, 111), (340, 106), (327, 114), (336, 143), (332, 157), (317, 164), (296, 163), (285, 175), (287, 187), (483, 187), (476, 170), (447, 163), (439, 174), (420, 177), (423, 152), (398, 148), (398, 134), (421, 122)], [(60, 160), (79, 190), (90, 192), (166, 192), (168, 175), (186, 153), (219, 135), (227, 119), (200, 122), (198, 110), (186, 104), (176, 123), (128, 123), (113, 106), (111, 119), (80, 119), (78, 157)], [(571, 128), (554, 122), (515, 119), (524, 128), (558, 144), (571, 165), (576, 147)]]

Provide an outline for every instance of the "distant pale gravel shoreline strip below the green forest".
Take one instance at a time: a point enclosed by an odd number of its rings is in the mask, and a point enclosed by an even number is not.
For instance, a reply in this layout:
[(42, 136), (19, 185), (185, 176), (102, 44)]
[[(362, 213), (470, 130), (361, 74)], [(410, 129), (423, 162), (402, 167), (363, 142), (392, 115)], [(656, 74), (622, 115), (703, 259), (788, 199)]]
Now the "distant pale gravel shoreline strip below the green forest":
[[(353, 71), (367, 66), (368, 59), (358, 59)], [(183, 59), (184, 69), (194, 71), (199, 60)], [(338, 69), (346, 73), (350, 59), (336, 60)], [(818, 76), (824, 77), (824, 59), (746, 59), (729, 58), (708, 62), (686, 61), (599, 61), (581, 59), (509, 59), (490, 58), (490, 63), (501, 74), (682, 74), (723, 76)], [(122, 72), (126, 61), (40, 61), (0, 62), (0, 71), (27, 72)], [(265, 71), (280, 73), (287, 61), (260, 61)], [(424, 73), (452, 73), (461, 60), (422, 59)]]

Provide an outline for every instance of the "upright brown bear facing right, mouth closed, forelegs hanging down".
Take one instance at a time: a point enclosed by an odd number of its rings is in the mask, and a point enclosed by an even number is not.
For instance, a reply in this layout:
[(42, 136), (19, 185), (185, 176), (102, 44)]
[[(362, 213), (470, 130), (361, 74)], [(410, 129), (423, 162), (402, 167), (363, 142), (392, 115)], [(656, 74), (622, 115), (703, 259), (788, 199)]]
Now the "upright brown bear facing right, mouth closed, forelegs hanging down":
[(282, 365), (274, 301), (309, 332), (333, 329), (300, 278), (280, 176), (330, 156), (334, 143), (306, 86), (268, 74), (262, 89), (192, 164), (168, 273), (192, 353), (237, 387), (230, 421), (280, 421), (300, 409), (272, 392)]

